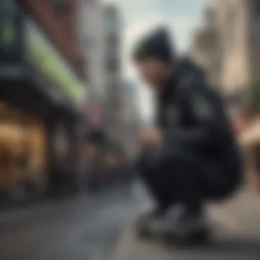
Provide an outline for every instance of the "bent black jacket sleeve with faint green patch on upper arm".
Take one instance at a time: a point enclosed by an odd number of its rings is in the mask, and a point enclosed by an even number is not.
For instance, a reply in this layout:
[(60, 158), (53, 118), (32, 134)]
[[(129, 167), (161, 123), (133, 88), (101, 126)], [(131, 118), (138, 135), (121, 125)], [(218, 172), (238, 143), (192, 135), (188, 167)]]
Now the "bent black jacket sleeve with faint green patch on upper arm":
[(194, 83), (185, 86), (178, 98), (182, 112), (192, 120), (192, 127), (170, 127), (161, 148), (167, 151), (178, 143), (195, 149), (213, 148), (223, 143), (229, 126), (218, 96), (203, 85)]

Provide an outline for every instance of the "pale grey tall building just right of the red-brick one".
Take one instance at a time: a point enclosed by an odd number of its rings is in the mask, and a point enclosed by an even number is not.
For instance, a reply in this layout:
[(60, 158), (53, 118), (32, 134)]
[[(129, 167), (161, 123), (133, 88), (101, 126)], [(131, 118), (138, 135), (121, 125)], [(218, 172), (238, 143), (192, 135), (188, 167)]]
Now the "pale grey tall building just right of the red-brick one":
[(105, 125), (115, 135), (120, 125), (120, 15), (115, 5), (80, 1), (79, 42), (86, 53), (89, 103), (103, 107)]

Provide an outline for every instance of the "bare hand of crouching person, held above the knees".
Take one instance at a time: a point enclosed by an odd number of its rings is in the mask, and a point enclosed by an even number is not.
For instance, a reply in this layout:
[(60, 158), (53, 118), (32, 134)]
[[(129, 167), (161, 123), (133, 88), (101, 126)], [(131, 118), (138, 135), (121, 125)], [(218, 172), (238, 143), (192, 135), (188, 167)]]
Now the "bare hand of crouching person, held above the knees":
[(139, 145), (142, 149), (151, 149), (161, 143), (161, 132), (157, 129), (144, 129), (138, 136)]

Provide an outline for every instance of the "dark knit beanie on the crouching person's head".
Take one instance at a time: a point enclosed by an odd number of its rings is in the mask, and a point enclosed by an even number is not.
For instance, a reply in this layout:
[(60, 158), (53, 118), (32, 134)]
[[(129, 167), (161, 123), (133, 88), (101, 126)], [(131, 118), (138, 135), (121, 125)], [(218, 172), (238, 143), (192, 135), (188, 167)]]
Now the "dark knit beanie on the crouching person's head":
[(142, 60), (146, 57), (157, 57), (167, 63), (174, 61), (174, 47), (168, 29), (165, 27), (155, 29), (135, 44), (132, 53), (133, 60)]

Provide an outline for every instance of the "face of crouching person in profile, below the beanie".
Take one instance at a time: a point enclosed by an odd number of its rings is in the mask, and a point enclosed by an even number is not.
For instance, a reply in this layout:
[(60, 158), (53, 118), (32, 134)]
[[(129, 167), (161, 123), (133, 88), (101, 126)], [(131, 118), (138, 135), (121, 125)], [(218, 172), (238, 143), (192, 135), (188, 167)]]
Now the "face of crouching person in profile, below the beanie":
[(170, 65), (150, 57), (135, 62), (140, 78), (154, 90), (160, 90), (170, 76)]

